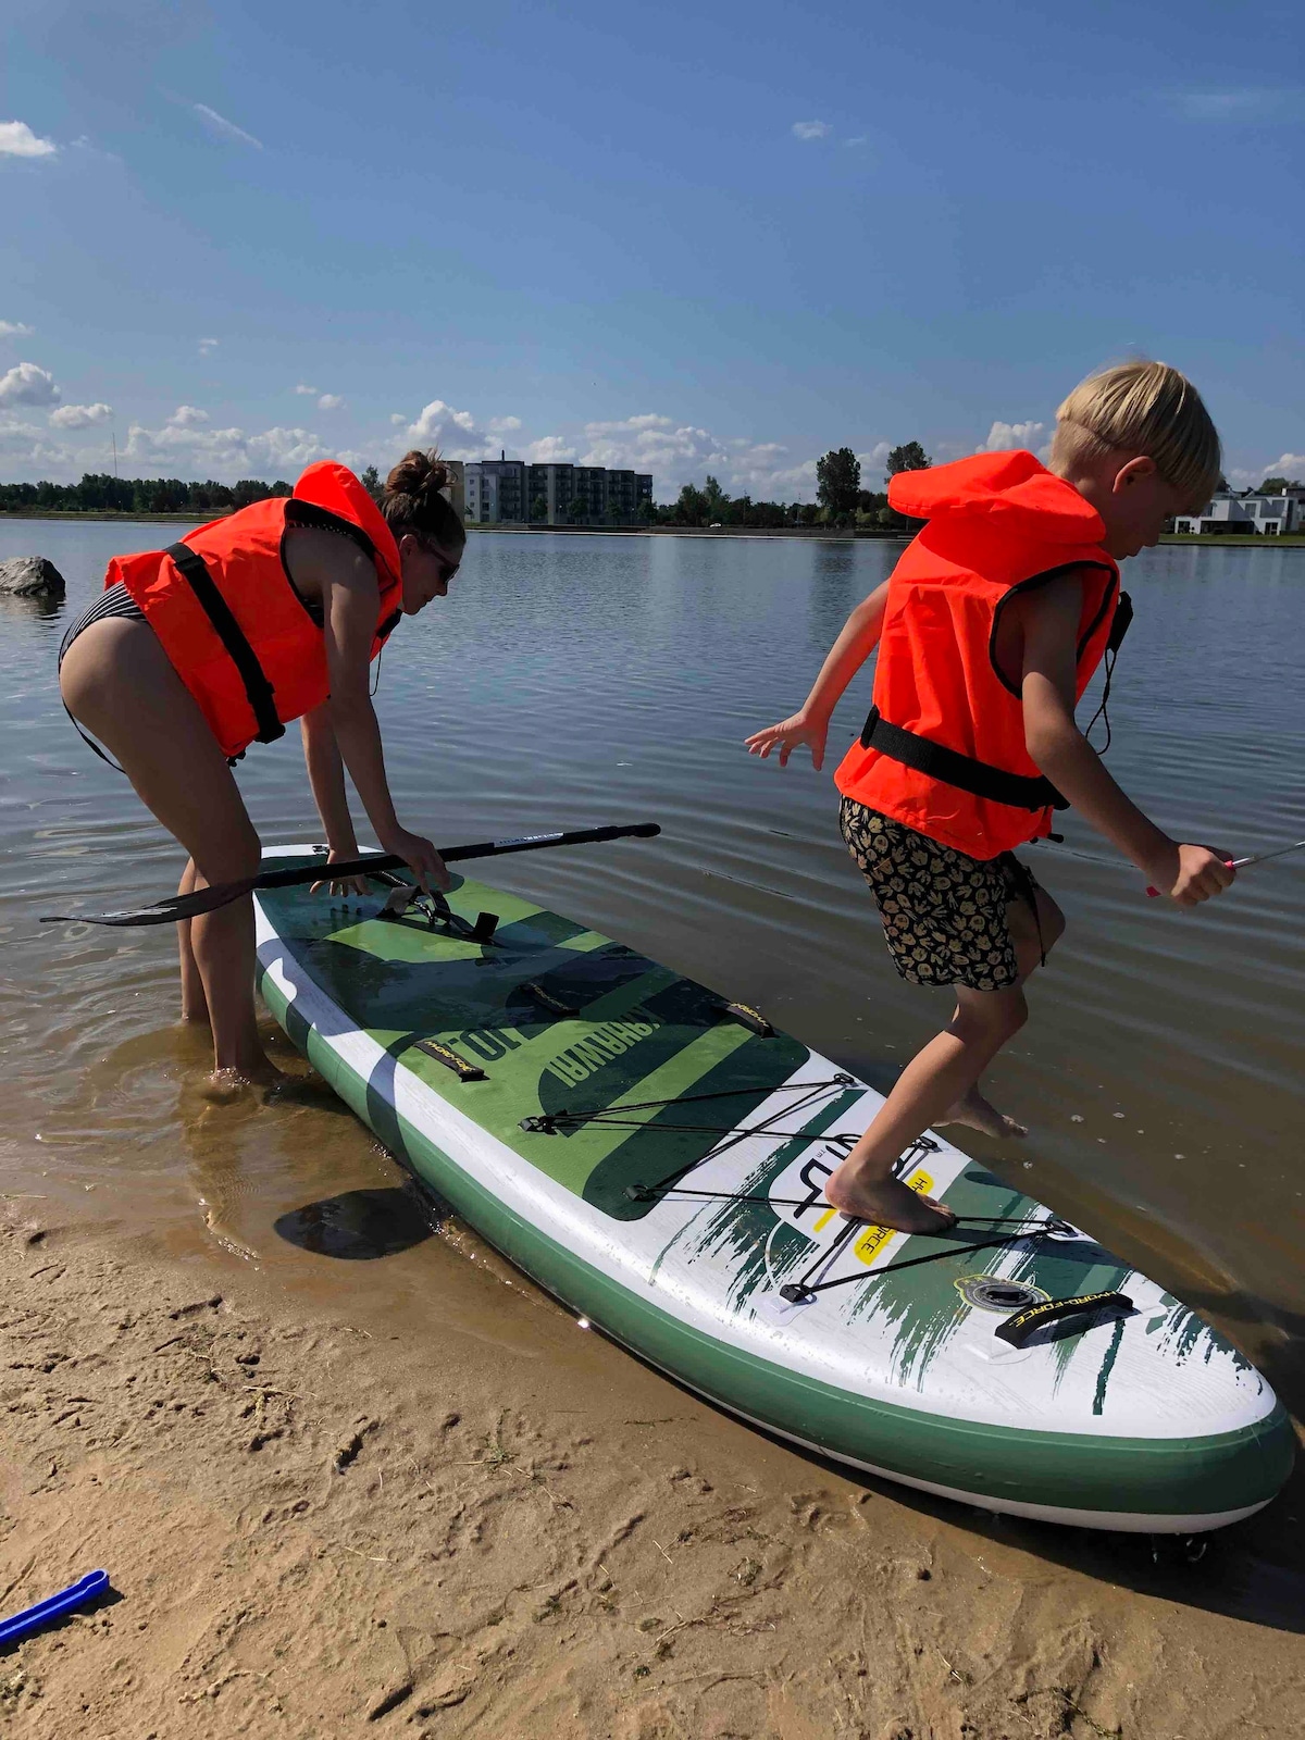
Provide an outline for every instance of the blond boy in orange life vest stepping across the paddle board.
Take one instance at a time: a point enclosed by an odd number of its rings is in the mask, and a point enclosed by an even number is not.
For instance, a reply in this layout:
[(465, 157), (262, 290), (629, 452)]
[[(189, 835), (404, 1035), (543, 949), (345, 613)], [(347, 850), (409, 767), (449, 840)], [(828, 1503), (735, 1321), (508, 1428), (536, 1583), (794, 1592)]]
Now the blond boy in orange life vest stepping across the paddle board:
[(820, 769), (830, 713), (879, 647), (875, 705), (835, 774), (842, 833), (898, 973), (955, 987), (957, 1006), (830, 1178), (844, 1215), (943, 1232), (955, 1216), (893, 1176), (898, 1155), (940, 1122), (1025, 1133), (978, 1082), (1028, 1018), (1025, 980), (1065, 929), (1013, 856), (1049, 833), (1053, 802), (1074, 804), (1180, 907), (1234, 880), (1223, 856), (1148, 821), (1074, 722), (1110, 642), (1119, 559), (1157, 543), (1218, 477), (1215, 425), (1162, 362), (1077, 386), (1049, 468), (997, 452), (900, 473), (889, 501), (927, 525), (847, 618), (802, 710), (746, 740), (753, 755), (778, 746), (781, 767), (806, 743)]

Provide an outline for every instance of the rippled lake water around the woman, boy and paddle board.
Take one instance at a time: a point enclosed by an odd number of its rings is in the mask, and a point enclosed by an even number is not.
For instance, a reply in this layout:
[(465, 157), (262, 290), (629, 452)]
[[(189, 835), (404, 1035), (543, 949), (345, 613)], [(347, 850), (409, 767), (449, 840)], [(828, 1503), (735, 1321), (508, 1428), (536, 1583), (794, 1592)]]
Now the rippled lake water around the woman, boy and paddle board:
[[(56, 611), (0, 599), (0, 1187), (89, 1199), (195, 1260), (218, 1239), (289, 1272), (304, 1262), (282, 1235), (296, 1211), (397, 1181), (367, 1131), (327, 1094), (266, 1108), (204, 1098), (207, 1044), (176, 1025), (169, 931), (35, 924), (176, 886), (179, 849), (80, 743), (54, 665), (106, 559), (179, 534), (0, 522), (0, 555), (44, 553), (68, 579)], [(894, 974), (839, 839), (830, 769), (780, 771), (741, 740), (799, 705), (896, 553), (473, 536), (452, 597), (405, 621), (385, 656), (400, 818), (445, 844), (659, 821), (652, 842), (513, 858), (491, 877), (762, 1007), (884, 1086), (947, 999)], [(1110, 708), (1114, 773), (1185, 839), (1244, 854), (1303, 835), (1305, 550), (1162, 548), (1124, 583), (1138, 618)], [(839, 710), (832, 764), (868, 691), (865, 673)], [(264, 842), (320, 833), (296, 733), (256, 746), (238, 780)], [(1300, 1411), (1305, 854), (1180, 914), (1148, 901), (1072, 816), (1067, 835), (1028, 853), (1070, 929), (992, 1077), (1032, 1134), (1018, 1150), (966, 1145), (1211, 1312)], [(385, 1268), (367, 1265), (371, 1286), (388, 1284)], [(322, 1267), (341, 1270), (358, 1284), (353, 1263)], [(452, 1291), (447, 1258), (405, 1274), (407, 1288)]]

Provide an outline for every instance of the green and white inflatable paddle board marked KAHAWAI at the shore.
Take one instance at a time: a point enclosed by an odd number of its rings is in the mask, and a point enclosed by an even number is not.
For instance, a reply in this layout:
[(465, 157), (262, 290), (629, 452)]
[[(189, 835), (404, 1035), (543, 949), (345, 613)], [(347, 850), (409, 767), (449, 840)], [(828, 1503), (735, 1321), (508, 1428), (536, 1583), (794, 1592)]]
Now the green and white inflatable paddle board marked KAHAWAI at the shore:
[(268, 1007), (404, 1166), (651, 1364), (988, 1510), (1194, 1533), (1286, 1481), (1295, 1434), (1255, 1366), (948, 1141), (901, 1176), (962, 1216), (950, 1235), (830, 1211), (882, 1101), (800, 1041), (487, 884), (454, 877), (433, 922), (386, 898), (258, 894)]

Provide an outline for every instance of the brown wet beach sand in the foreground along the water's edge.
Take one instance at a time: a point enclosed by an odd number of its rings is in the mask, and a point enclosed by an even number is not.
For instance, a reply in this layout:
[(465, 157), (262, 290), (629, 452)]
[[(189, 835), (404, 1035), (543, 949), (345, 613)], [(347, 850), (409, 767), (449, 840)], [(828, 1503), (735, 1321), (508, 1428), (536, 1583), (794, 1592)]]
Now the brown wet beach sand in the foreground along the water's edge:
[(16, 1740), (1305, 1731), (1300, 1481), (1154, 1561), (795, 1455), (456, 1228), (465, 1308), (414, 1345), (372, 1265), (324, 1308), (0, 1209), (0, 1615), (113, 1578), (0, 1655)]

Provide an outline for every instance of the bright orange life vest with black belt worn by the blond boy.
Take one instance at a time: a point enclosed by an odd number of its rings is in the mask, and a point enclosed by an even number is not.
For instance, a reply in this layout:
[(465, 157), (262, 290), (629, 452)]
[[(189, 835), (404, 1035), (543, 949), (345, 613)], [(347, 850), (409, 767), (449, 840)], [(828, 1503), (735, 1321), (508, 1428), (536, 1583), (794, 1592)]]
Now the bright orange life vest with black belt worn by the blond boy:
[(1018, 682), (997, 666), (1000, 612), (1067, 569), (1082, 574), (1077, 699), (1112, 637), (1119, 567), (1096, 508), (1032, 452), (901, 472), (887, 498), (927, 525), (889, 578), (873, 706), (833, 778), (917, 833), (995, 858), (1042, 839), (1065, 807), (1025, 748)]

